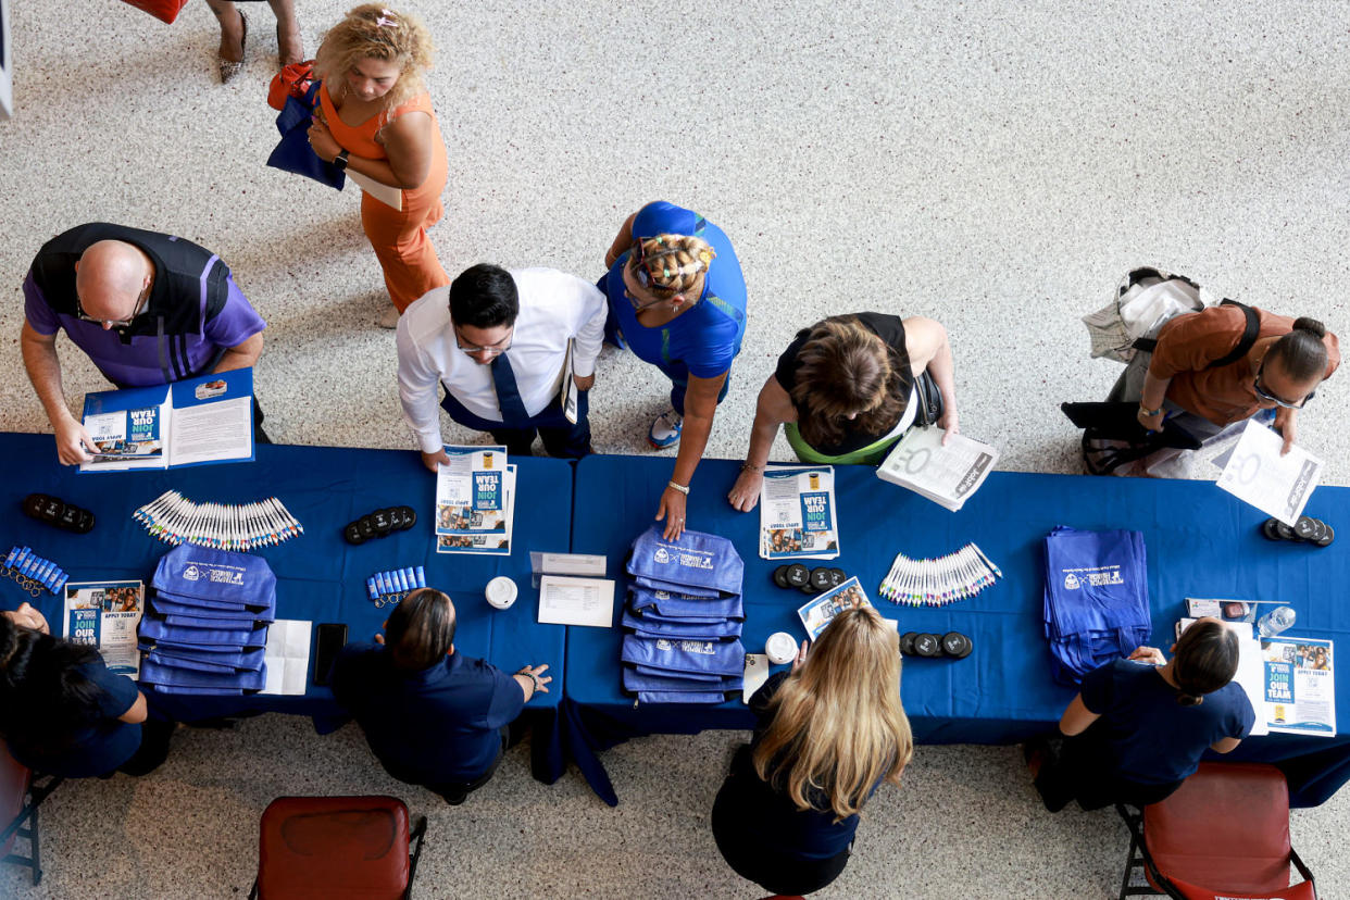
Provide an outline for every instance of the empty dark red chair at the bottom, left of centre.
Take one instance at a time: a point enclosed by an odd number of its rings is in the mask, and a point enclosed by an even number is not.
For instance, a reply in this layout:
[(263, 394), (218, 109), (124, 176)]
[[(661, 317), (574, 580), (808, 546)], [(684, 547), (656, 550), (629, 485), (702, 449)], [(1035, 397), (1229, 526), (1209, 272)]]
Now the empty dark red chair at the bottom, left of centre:
[(277, 797), (261, 831), (250, 900), (406, 900), (427, 818), (409, 831), (408, 807), (396, 797)]

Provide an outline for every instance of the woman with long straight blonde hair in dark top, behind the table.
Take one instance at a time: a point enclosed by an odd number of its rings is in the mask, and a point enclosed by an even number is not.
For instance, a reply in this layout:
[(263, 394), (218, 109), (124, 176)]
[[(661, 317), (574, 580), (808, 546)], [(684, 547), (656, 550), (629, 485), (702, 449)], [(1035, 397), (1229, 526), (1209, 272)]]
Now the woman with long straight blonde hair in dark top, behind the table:
[(846, 609), (751, 698), (753, 738), (713, 804), (722, 858), (765, 891), (805, 895), (844, 872), (859, 812), (914, 753), (895, 629)]

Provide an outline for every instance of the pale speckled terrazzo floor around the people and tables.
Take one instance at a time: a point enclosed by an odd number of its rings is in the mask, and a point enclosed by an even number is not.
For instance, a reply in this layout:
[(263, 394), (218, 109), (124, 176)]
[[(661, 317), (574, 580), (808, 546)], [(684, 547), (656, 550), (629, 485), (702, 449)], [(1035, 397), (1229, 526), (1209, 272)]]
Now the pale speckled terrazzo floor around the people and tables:
[[(267, 9), (248, 4), (248, 63), (221, 86), (201, 3), (171, 27), (107, 1), (9, 5), (0, 428), (50, 430), (18, 347), (32, 254), (109, 220), (182, 235), (232, 266), (269, 321), (256, 391), (277, 441), (410, 449), (393, 335), (371, 324), (387, 301), (356, 197), (262, 165), (275, 142)], [(298, 5), (312, 53), (348, 4)], [(432, 239), (448, 271), (489, 260), (598, 277), (624, 217), (656, 198), (730, 235), (749, 329), (710, 456), (745, 452), (778, 354), (838, 312), (944, 322), (963, 430), (996, 443), (1002, 468), (1046, 472), (1079, 471), (1058, 403), (1099, 399), (1119, 371), (1087, 359), (1077, 317), (1134, 264), (1350, 328), (1345, 4), (483, 0), (418, 12), (440, 47), (429, 86), (451, 181)], [(73, 405), (104, 386), (69, 345), (62, 362)], [(1336, 484), (1350, 483), (1342, 379), (1300, 420), (1300, 444)], [(606, 351), (597, 449), (645, 452), (664, 393)], [(466, 434), (447, 424), (446, 437)], [(782, 440), (774, 459), (788, 459)], [(393, 792), (431, 819), (417, 897), (755, 897), (707, 828), (740, 738), (614, 749), (617, 810), (575, 775), (532, 781), (517, 749), (450, 808), (385, 777), (352, 727), (317, 738), (270, 715), (182, 730), (150, 777), (62, 787), (43, 807), (42, 887), (3, 868), (0, 895), (242, 896), (271, 797)], [(1292, 816), (1326, 897), (1350, 893), (1347, 820), (1345, 793)], [(1112, 814), (1045, 814), (1017, 748), (923, 746), (818, 896), (1106, 897), (1125, 849)]]

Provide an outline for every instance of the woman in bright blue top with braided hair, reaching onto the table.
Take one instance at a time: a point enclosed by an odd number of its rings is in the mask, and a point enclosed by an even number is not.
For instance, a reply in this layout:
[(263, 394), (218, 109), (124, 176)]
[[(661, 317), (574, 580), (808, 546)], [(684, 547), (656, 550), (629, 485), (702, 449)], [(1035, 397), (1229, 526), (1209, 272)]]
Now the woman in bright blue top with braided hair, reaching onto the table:
[(671, 381), (671, 407), (647, 440), (656, 449), (679, 444), (656, 510), (666, 538), (675, 540), (684, 530), (690, 482), (745, 336), (745, 278), (721, 228), (664, 201), (628, 217), (605, 264), (609, 273), (598, 287), (609, 301), (606, 339)]

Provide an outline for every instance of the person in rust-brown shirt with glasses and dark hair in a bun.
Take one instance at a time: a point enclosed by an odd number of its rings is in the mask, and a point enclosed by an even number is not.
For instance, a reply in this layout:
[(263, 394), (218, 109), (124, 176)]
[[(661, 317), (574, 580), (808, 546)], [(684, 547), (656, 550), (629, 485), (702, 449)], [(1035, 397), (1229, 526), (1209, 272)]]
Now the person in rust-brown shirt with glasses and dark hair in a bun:
[(1204, 440), (1226, 426), (1274, 409), (1284, 451), (1293, 447), (1299, 410), (1341, 364), (1341, 343), (1315, 318), (1291, 318), (1251, 308), (1256, 343), (1237, 360), (1211, 366), (1242, 340), (1241, 306), (1211, 306), (1172, 318), (1158, 331), (1152, 356), (1138, 354), (1112, 399), (1139, 401), (1139, 424), (1162, 428), (1164, 417)]

